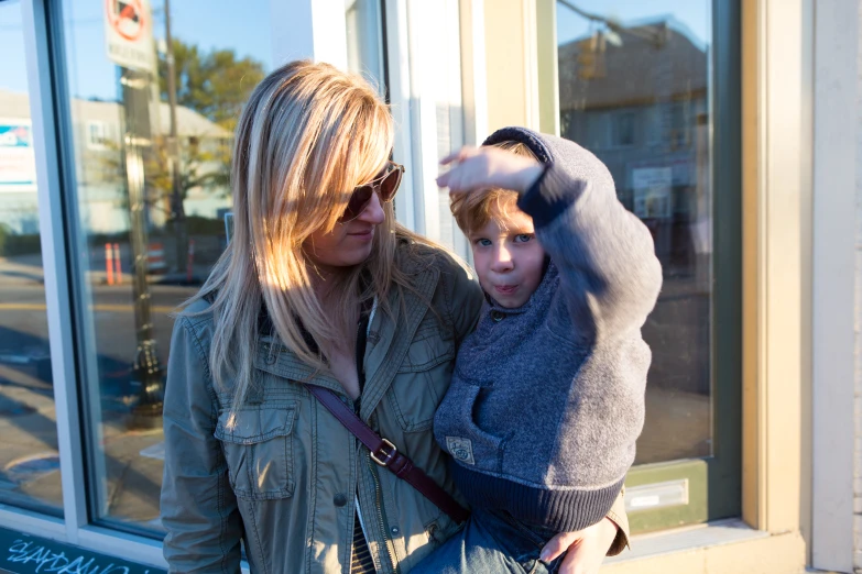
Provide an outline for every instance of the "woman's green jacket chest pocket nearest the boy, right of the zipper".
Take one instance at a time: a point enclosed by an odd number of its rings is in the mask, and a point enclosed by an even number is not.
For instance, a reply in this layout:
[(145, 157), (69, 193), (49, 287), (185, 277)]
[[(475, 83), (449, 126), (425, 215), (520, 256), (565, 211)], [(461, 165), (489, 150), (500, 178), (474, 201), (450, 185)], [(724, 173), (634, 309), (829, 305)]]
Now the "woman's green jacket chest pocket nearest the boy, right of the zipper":
[(388, 391), (405, 432), (432, 428), (434, 412), (451, 379), (455, 341), (436, 321), (428, 313), (419, 325)]

